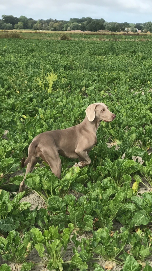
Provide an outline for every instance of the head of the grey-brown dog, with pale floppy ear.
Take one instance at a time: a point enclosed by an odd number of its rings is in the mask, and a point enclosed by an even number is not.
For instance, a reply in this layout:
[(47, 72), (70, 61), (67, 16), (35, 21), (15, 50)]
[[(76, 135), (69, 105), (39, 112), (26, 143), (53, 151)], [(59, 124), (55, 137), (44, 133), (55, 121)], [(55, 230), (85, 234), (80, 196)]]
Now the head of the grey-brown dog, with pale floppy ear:
[(85, 110), (85, 113), (89, 121), (93, 121), (96, 117), (97, 120), (109, 122), (113, 121), (114, 118), (116, 117), (115, 114), (109, 111), (107, 105), (105, 105), (103, 102), (90, 104)]

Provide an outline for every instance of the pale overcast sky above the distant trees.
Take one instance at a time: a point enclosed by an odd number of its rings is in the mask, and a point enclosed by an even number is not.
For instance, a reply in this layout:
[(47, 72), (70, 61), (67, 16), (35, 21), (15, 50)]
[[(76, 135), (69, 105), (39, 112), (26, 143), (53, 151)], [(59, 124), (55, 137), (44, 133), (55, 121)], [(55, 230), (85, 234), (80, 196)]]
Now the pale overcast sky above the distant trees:
[(111, 22), (152, 21), (152, 0), (0, 0), (2, 14), (70, 20), (90, 16)]

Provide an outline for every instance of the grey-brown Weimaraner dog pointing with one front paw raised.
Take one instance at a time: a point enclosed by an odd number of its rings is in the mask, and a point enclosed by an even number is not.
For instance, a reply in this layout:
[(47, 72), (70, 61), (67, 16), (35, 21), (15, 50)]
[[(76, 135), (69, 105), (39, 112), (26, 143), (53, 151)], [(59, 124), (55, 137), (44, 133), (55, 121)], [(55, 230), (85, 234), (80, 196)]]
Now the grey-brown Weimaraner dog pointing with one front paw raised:
[(90, 104), (85, 110), (84, 120), (75, 126), (64, 130), (53, 130), (38, 134), (29, 145), (28, 157), (22, 160), (22, 167), (27, 166), (19, 192), (24, 190), (24, 180), (31, 172), (38, 158), (41, 157), (51, 168), (52, 173), (61, 177), (60, 156), (79, 159), (74, 166), (84, 167), (91, 163), (89, 151), (97, 143), (97, 129), (100, 122), (113, 121), (115, 114), (108, 110), (104, 103)]

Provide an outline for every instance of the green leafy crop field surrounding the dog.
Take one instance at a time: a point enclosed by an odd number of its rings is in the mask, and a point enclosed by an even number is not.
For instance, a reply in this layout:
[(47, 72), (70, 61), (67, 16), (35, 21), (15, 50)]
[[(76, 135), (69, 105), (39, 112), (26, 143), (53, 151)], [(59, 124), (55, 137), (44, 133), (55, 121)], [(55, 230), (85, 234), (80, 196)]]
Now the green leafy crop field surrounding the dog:
[[(117, 116), (91, 164), (40, 159), (18, 193), (32, 139), (94, 102)], [(0, 271), (152, 271), (152, 41), (2, 38), (0, 105)]]

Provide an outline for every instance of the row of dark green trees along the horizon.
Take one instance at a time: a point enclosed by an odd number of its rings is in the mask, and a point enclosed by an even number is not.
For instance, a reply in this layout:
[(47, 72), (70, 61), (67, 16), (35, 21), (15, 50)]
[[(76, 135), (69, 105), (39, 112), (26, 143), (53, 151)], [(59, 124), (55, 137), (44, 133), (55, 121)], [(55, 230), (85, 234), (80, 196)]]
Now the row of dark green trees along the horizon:
[[(127, 28), (127, 29), (126, 29)], [(50, 30), (50, 31), (67, 31), (67, 30), (81, 30), (81, 31), (98, 31), (108, 30), (112, 32), (131, 31), (136, 32), (137, 29), (147, 32), (152, 32), (152, 22), (144, 23), (118, 23), (106, 22), (103, 18), (92, 19), (91, 17), (70, 18), (69, 21), (47, 19), (34, 20), (26, 16), (14, 17), (13, 15), (2, 15), (0, 19), (0, 29), (33, 29), (33, 30)]]

